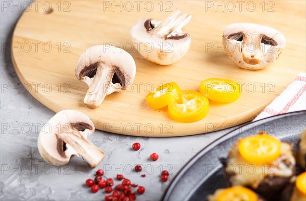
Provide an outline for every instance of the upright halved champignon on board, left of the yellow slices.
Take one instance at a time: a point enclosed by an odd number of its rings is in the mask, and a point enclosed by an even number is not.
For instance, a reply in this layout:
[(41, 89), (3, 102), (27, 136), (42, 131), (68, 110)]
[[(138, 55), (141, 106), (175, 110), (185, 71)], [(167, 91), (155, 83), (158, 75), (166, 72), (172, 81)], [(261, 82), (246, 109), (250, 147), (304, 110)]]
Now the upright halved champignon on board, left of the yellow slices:
[(89, 108), (101, 105), (106, 95), (126, 89), (136, 73), (133, 57), (115, 46), (95, 45), (80, 57), (75, 76), (89, 89), (84, 104)]

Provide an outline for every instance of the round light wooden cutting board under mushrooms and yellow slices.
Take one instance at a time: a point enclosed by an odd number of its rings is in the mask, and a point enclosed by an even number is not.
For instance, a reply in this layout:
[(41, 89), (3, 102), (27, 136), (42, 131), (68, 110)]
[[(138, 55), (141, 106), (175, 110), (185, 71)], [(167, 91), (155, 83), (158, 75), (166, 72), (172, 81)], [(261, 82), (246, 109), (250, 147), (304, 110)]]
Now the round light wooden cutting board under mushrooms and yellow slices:
[[(189, 52), (172, 65), (150, 63), (132, 49), (130, 28), (142, 18), (162, 20), (175, 9), (192, 14), (184, 28), (192, 38)], [(273, 66), (241, 69), (225, 55), (223, 29), (235, 22), (264, 24), (285, 35), (286, 48)], [(24, 88), (55, 112), (82, 111), (103, 131), (172, 137), (226, 129), (256, 117), (305, 71), (305, 38), (305, 1), (38, 1), (17, 23), (12, 60)], [(88, 87), (75, 78), (74, 68), (82, 52), (96, 44), (125, 49), (137, 72), (132, 89), (113, 93), (98, 109), (89, 109), (83, 105)], [(145, 102), (145, 95), (161, 83), (198, 90), (208, 78), (243, 83), (241, 97), (231, 104), (211, 102), (209, 114), (194, 123), (173, 121), (165, 108), (152, 110)]]

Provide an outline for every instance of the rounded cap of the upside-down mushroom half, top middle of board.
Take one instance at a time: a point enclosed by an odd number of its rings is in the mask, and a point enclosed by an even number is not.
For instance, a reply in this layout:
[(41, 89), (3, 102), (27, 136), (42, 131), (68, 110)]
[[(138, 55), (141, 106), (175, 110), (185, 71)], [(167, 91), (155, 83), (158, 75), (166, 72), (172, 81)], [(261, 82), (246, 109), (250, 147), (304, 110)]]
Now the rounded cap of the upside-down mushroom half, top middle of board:
[(189, 50), (190, 35), (186, 33), (186, 37), (182, 39), (166, 39), (152, 34), (144, 27), (145, 21), (149, 19), (141, 19), (131, 28), (130, 34), (134, 47), (145, 59), (160, 65), (179, 61)]

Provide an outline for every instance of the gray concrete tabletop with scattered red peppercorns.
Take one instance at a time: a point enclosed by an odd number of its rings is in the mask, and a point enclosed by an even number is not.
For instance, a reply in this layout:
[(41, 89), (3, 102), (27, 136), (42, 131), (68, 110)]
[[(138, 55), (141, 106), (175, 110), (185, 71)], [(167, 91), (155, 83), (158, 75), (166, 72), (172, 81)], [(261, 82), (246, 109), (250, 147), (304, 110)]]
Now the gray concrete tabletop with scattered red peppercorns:
[[(107, 177), (123, 173), (134, 183), (146, 188), (139, 200), (159, 200), (174, 175), (200, 149), (225, 134), (220, 131), (196, 136), (147, 138), (122, 136), (96, 131), (90, 140), (106, 152), (106, 157), (95, 169), (82, 158), (73, 158), (66, 166), (55, 167), (43, 161), (37, 149), (38, 133), (55, 113), (20, 90), (10, 46), (14, 26), (22, 9), (1, 8), (1, 199), (2, 200), (103, 200), (105, 193), (91, 193), (85, 180), (94, 178), (102, 168)], [(7, 87), (9, 86), (9, 87)], [(142, 148), (131, 149), (134, 142)], [(160, 159), (148, 160), (156, 152)], [(143, 166), (140, 174), (131, 171), (135, 164)], [(161, 170), (168, 169), (170, 180), (160, 182)], [(115, 181), (115, 184), (118, 182)]]

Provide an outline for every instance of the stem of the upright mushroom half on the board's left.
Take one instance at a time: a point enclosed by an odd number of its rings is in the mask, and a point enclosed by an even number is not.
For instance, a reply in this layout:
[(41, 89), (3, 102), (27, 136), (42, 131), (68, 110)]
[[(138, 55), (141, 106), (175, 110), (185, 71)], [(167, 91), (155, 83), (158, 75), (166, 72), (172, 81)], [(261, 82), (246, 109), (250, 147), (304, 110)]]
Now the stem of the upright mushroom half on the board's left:
[(84, 98), (84, 104), (89, 108), (98, 108), (101, 105), (114, 76), (114, 69), (107, 63), (98, 62), (97, 65), (96, 75)]

